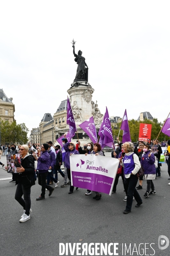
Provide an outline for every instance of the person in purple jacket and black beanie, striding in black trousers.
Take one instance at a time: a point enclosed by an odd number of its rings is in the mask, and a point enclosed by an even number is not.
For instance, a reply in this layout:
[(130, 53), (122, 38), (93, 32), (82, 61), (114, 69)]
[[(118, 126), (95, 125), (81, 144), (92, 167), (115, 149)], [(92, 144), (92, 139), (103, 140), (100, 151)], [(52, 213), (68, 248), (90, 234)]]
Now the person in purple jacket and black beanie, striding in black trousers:
[(38, 184), (42, 186), (41, 195), (36, 198), (37, 201), (45, 199), (46, 189), (49, 190), (49, 196), (52, 195), (54, 188), (49, 185), (46, 185), (46, 176), (48, 175), (49, 170), (49, 145), (44, 143), (41, 145), (41, 149), (38, 149), (38, 154), (32, 154), (35, 160), (37, 160), (37, 170), (38, 170)]

